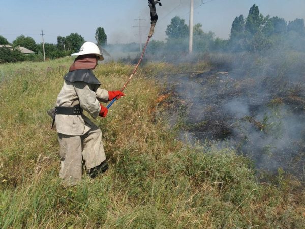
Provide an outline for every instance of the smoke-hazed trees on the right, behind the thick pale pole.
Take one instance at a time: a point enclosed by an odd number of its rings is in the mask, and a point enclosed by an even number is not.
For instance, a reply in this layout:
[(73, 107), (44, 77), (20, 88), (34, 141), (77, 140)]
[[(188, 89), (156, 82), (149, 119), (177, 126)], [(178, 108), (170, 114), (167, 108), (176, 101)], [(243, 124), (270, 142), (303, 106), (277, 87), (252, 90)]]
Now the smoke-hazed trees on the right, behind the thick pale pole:
[[(151, 41), (147, 52), (154, 55), (177, 56), (187, 53), (189, 26), (176, 16), (167, 26), (165, 42)], [(193, 52), (251, 52), (265, 53), (272, 49), (305, 51), (305, 26), (303, 19), (286, 22), (283, 18), (264, 17), (255, 4), (248, 16), (236, 17), (231, 26), (230, 38), (216, 38), (213, 32), (204, 32), (201, 24), (193, 27)]]

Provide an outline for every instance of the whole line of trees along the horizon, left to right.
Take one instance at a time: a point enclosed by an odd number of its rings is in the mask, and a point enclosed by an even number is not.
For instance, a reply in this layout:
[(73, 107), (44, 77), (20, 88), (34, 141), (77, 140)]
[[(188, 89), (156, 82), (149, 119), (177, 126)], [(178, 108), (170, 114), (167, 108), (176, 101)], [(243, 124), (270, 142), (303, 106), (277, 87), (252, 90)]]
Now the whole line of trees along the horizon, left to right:
[[(153, 40), (147, 47), (147, 54), (155, 58), (163, 56), (181, 56), (188, 52), (189, 26), (184, 19), (176, 16), (166, 28), (166, 41)], [(264, 53), (272, 49), (289, 49), (305, 51), (305, 26), (303, 19), (285, 21), (280, 17), (263, 16), (255, 4), (250, 8), (248, 16), (237, 16), (231, 26), (229, 39), (220, 39), (211, 31), (204, 32), (200, 23), (193, 28), (193, 50), (195, 53), (212, 51), (221, 52), (251, 52)], [(120, 46), (125, 52), (137, 51), (137, 44), (107, 44), (107, 35), (104, 28), (98, 27), (95, 38), (100, 46), (108, 45), (108, 48)], [(50, 59), (70, 55), (77, 52), (84, 42), (84, 38), (78, 33), (69, 36), (57, 37), (57, 44), (45, 43), (46, 57)], [(0, 36), (0, 44), (9, 42)], [(42, 44), (36, 44), (31, 37), (21, 35), (12, 42), (13, 49), (0, 48), (0, 63), (22, 60), (43, 60)], [(36, 55), (23, 55), (18, 50), (23, 46), (36, 53)], [(121, 47), (122, 46), (122, 47)]]

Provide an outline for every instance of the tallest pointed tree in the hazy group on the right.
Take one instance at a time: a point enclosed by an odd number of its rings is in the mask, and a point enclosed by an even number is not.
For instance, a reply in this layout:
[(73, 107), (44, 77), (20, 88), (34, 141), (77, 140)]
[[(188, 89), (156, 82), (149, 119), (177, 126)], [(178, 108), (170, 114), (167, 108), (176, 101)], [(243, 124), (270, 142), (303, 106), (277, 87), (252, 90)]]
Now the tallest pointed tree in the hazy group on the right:
[(264, 17), (259, 13), (258, 6), (255, 4), (250, 8), (246, 19), (245, 30), (249, 35), (254, 35), (264, 24)]

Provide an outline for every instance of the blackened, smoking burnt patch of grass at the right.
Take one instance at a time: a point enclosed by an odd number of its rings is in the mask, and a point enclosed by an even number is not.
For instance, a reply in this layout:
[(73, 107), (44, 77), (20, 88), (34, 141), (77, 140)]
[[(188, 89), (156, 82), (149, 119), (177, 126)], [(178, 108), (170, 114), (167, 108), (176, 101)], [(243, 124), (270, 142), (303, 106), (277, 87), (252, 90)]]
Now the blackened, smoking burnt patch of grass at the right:
[(168, 112), (180, 140), (232, 147), (259, 173), (282, 169), (304, 182), (304, 76), (216, 66), (161, 78), (172, 95), (164, 102), (171, 104)]

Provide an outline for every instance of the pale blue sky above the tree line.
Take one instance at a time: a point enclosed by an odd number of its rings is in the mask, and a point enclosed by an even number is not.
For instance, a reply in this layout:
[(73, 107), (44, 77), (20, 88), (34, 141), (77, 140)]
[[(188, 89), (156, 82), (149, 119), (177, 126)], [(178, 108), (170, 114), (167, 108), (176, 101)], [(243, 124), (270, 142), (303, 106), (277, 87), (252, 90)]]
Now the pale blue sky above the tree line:
[[(154, 39), (165, 40), (171, 18), (179, 16), (189, 23), (190, 0), (161, 0)], [(203, 3), (203, 4), (202, 4)], [(305, 0), (194, 0), (194, 24), (202, 24), (205, 32), (229, 38), (236, 16), (247, 17), (256, 4), (264, 15), (278, 16), (286, 21), (305, 19)], [(141, 15), (141, 31), (139, 18)], [(103, 27), (109, 44), (139, 41), (150, 27), (147, 0), (0, 0), (0, 35), (9, 42), (21, 34), (42, 42), (57, 43), (57, 36), (78, 33), (86, 41), (95, 42), (95, 32)]]

